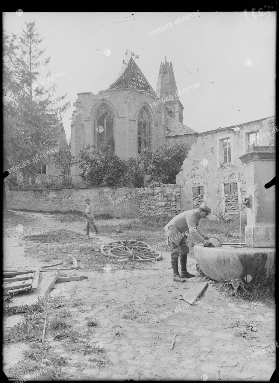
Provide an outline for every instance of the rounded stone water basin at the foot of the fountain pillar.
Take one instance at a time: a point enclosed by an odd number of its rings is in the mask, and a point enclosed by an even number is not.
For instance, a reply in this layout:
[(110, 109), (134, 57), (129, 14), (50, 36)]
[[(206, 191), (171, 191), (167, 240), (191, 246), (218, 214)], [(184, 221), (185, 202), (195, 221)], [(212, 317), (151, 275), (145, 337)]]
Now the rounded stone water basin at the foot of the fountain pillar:
[(215, 281), (238, 278), (253, 283), (275, 276), (275, 248), (197, 244), (194, 255), (204, 274)]

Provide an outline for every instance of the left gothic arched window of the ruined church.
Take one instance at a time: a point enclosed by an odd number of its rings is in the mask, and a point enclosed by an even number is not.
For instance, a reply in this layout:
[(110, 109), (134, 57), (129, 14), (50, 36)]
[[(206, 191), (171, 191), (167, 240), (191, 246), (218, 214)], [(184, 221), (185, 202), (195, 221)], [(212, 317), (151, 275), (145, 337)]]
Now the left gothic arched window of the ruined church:
[(97, 148), (107, 144), (114, 150), (114, 118), (107, 106), (103, 105), (99, 108), (95, 121), (95, 143)]

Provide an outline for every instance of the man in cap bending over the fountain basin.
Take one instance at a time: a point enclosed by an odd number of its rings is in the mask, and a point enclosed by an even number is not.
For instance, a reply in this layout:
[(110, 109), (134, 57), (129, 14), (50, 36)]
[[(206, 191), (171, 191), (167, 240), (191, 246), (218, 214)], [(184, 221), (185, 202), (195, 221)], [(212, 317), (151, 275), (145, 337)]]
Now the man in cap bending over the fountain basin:
[[(176, 282), (185, 282), (184, 278), (195, 277), (187, 271), (187, 254), (190, 249), (187, 246), (187, 235), (191, 233), (195, 241), (202, 242), (204, 246), (208, 246), (210, 242), (208, 237), (201, 231), (199, 220), (205, 218), (211, 213), (210, 207), (206, 203), (202, 203), (198, 209), (183, 211), (177, 214), (164, 227), (167, 233), (168, 248), (171, 252), (171, 265), (173, 270), (173, 280)], [(178, 258), (181, 265), (181, 273), (178, 272)]]

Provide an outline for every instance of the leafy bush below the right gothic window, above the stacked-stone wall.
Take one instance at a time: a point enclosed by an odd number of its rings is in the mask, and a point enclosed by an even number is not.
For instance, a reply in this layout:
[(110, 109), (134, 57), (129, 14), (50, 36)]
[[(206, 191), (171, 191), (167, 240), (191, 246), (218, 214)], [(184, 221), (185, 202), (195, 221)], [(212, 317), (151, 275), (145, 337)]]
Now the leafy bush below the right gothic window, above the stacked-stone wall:
[(176, 175), (181, 170), (181, 165), (189, 149), (183, 142), (156, 145), (151, 151), (143, 149), (140, 152), (138, 161), (143, 164), (143, 170), (149, 175), (147, 182), (176, 183)]

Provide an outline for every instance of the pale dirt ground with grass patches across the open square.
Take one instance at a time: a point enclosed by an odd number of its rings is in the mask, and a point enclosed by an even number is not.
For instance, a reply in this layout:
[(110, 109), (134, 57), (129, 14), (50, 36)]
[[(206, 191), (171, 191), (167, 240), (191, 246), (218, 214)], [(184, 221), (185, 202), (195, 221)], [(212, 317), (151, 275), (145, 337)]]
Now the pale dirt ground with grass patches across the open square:
[[(57, 260), (64, 261), (64, 267), (77, 257), (81, 268), (64, 272), (63, 276), (88, 277), (63, 283), (65, 290), (43, 304), (48, 313), (46, 350), (29, 331), (29, 337), (16, 336), (22, 323), (31, 322), (30, 315), (5, 314), (3, 370), (7, 376), (22, 378), (55, 366), (53, 380), (271, 378), (276, 367), (276, 348), (272, 348), (276, 342), (274, 307), (228, 298), (208, 286), (199, 303), (179, 311), (176, 308), (185, 303), (185, 290), (203, 281), (200, 277), (189, 278), (185, 283), (172, 281), (168, 252), (160, 252), (162, 259), (157, 262), (130, 261), (119, 265), (98, 251), (102, 244), (133, 238), (125, 229), (129, 223), (138, 225), (138, 235), (143, 235), (139, 219), (97, 220), (100, 235), (91, 233), (92, 239), (72, 240), (67, 238), (85, 233), (85, 219), (69, 217), (17, 212), (4, 222), (4, 268), (34, 268)], [(123, 232), (113, 231), (120, 224)], [(48, 232), (52, 234), (46, 236), (44, 243), (27, 238)], [(56, 237), (56, 232), (62, 233), (60, 237)], [(156, 243), (156, 236), (151, 242)], [(192, 249), (189, 255), (187, 268), (197, 274)], [(61, 283), (53, 288), (59, 287)], [(151, 321), (169, 310), (172, 315)], [(51, 331), (55, 318), (66, 318), (71, 330), (65, 332), (64, 323), (57, 331)], [(250, 331), (249, 324), (258, 331)], [(34, 325), (41, 334), (43, 325), (42, 319)], [(169, 349), (174, 334), (174, 348)], [(271, 351), (249, 357), (268, 347)], [(47, 377), (50, 379), (50, 375)], [(42, 373), (41, 378), (46, 376)]]

